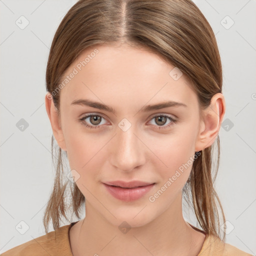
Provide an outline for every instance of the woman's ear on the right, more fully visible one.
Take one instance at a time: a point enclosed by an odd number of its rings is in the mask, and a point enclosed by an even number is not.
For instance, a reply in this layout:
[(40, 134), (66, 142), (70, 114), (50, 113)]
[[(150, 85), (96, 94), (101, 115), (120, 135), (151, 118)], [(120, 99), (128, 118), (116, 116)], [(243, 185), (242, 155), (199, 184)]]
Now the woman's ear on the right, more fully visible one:
[(210, 105), (202, 111), (200, 129), (195, 143), (195, 151), (200, 151), (213, 144), (218, 135), (224, 114), (224, 96), (222, 93), (216, 93), (212, 96)]

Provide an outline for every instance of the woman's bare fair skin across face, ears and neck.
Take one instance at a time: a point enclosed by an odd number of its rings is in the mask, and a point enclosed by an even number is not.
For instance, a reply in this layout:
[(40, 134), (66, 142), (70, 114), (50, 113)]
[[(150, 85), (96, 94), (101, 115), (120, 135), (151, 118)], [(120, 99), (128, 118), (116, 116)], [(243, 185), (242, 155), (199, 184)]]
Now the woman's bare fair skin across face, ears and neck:
[[(146, 48), (97, 46), (87, 48), (69, 66), (70, 74), (79, 61), (94, 48), (99, 52), (60, 90), (60, 116), (53, 101), (45, 95), (45, 106), (53, 135), (66, 150), (70, 170), (85, 196), (85, 218), (69, 232), (74, 256), (81, 255), (197, 255), (205, 235), (193, 229), (182, 215), (182, 188), (192, 164), (167, 189), (150, 202), (169, 177), (192, 157), (210, 146), (218, 135), (225, 112), (221, 93), (199, 115), (197, 95), (183, 75), (174, 80), (172, 65)], [(71, 105), (75, 99), (90, 99), (115, 109), (115, 114), (89, 106)], [(139, 112), (148, 104), (174, 100), (187, 105)], [(101, 114), (101, 121), (84, 122), (85, 114)], [(154, 115), (168, 114), (162, 127)], [(100, 118), (100, 117), (99, 117)], [(131, 124), (123, 131), (118, 123)], [(95, 124), (96, 123), (96, 124)], [(99, 123), (99, 124), (98, 124)], [(101, 182), (142, 180), (155, 186), (141, 198), (125, 202), (109, 194)], [(131, 229), (123, 233), (118, 226), (126, 221)], [(125, 253), (124, 253), (125, 252)], [(95, 254), (97, 253), (97, 254)]]

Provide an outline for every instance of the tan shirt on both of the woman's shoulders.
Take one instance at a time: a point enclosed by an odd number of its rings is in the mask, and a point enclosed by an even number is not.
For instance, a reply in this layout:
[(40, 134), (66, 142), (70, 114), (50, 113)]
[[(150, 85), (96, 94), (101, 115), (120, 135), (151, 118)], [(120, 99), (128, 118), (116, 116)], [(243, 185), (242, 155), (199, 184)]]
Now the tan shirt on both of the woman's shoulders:
[[(76, 221), (77, 222), (77, 221)], [(69, 225), (61, 226), (55, 231), (17, 245), (1, 254), (1, 256), (73, 256), (68, 232)], [(202, 248), (197, 256), (252, 256), (218, 237), (206, 234)]]

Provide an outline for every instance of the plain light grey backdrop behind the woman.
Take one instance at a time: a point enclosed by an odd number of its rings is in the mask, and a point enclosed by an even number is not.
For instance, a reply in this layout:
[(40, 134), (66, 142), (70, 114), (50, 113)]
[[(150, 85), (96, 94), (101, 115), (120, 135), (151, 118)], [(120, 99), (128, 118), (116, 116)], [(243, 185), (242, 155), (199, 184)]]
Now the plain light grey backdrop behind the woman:
[[(75, 2), (0, 0), (0, 252), (44, 234), (54, 177), (45, 69), (57, 26)], [(223, 66), (226, 113), (216, 191), (228, 221), (226, 242), (255, 255), (256, 2), (194, 2), (216, 35)]]

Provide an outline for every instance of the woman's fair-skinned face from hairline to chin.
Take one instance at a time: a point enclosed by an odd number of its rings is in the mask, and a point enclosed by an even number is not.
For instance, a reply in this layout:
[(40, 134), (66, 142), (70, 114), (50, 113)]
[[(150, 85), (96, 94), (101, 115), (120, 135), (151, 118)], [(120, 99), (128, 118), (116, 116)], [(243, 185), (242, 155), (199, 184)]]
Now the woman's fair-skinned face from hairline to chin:
[[(72, 78), (59, 92), (61, 147), (78, 177), (85, 209), (115, 225), (125, 220), (141, 226), (168, 210), (200, 150), (197, 96), (185, 74), (177, 79), (173, 68), (145, 48), (105, 45), (87, 48), (64, 74)], [(167, 101), (182, 104), (148, 107)], [(136, 199), (141, 189), (120, 192), (119, 199), (103, 184), (115, 180), (154, 184)]]

